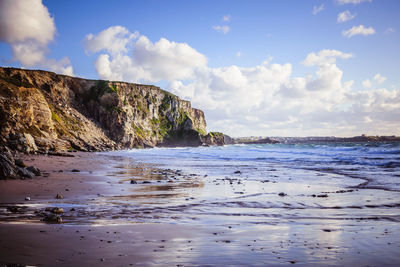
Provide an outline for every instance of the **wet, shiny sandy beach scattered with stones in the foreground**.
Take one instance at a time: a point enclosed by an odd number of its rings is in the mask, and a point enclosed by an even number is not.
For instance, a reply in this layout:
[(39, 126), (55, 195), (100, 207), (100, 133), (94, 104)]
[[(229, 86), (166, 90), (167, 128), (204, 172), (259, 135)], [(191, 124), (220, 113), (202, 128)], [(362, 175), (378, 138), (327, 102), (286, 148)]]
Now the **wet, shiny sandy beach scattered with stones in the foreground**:
[[(290, 191), (285, 187), (290, 181), (275, 178), (273, 183), (272, 178), (266, 186), (273, 192), (286, 189), (288, 195), (265, 193), (265, 202), (276, 206), (258, 207), (263, 214), (252, 214), (244, 206), (251, 202), (241, 198), (257, 197), (249, 193), (260, 186), (233, 171), (236, 178), (216, 179), (117, 156), (74, 155), (24, 156), (27, 165), (39, 167), (44, 175), (0, 181), (0, 264), (396, 266), (400, 262), (396, 214), (363, 218), (361, 206), (337, 208), (343, 200), (350, 202), (350, 194), (365, 198), (368, 190), (329, 192), (328, 198), (314, 197), (313, 191), (296, 196), (311, 189)], [(57, 194), (63, 198), (56, 199)], [(227, 195), (234, 201), (223, 203)], [(25, 201), (27, 196), (30, 201)], [(310, 203), (299, 204), (300, 197)], [(322, 212), (320, 220), (308, 217), (313, 205), (328, 207), (317, 211)], [(51, 214), (49, 208), (56, 207), (64, 211), (58, 214), (62, 223), (42, 221)], [(285, 209), (291, 217), (279, 217)], [(348, 210), (357, 216), (338, 220), (337, 214)]]

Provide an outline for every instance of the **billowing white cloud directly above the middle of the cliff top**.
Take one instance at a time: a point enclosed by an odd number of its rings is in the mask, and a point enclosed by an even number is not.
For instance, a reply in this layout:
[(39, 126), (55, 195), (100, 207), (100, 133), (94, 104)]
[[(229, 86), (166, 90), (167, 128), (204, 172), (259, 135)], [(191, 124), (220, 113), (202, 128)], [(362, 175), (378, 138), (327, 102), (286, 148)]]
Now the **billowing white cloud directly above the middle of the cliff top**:
[(89, 34), (85, 39), (86, 51), (102, 52), (95, 62), (102, 79), (153, 83), (190, 79), (196, 68), (207, 64), (207, 58), (186, 43), (165, 38), (153, 43), (121, 26)]

